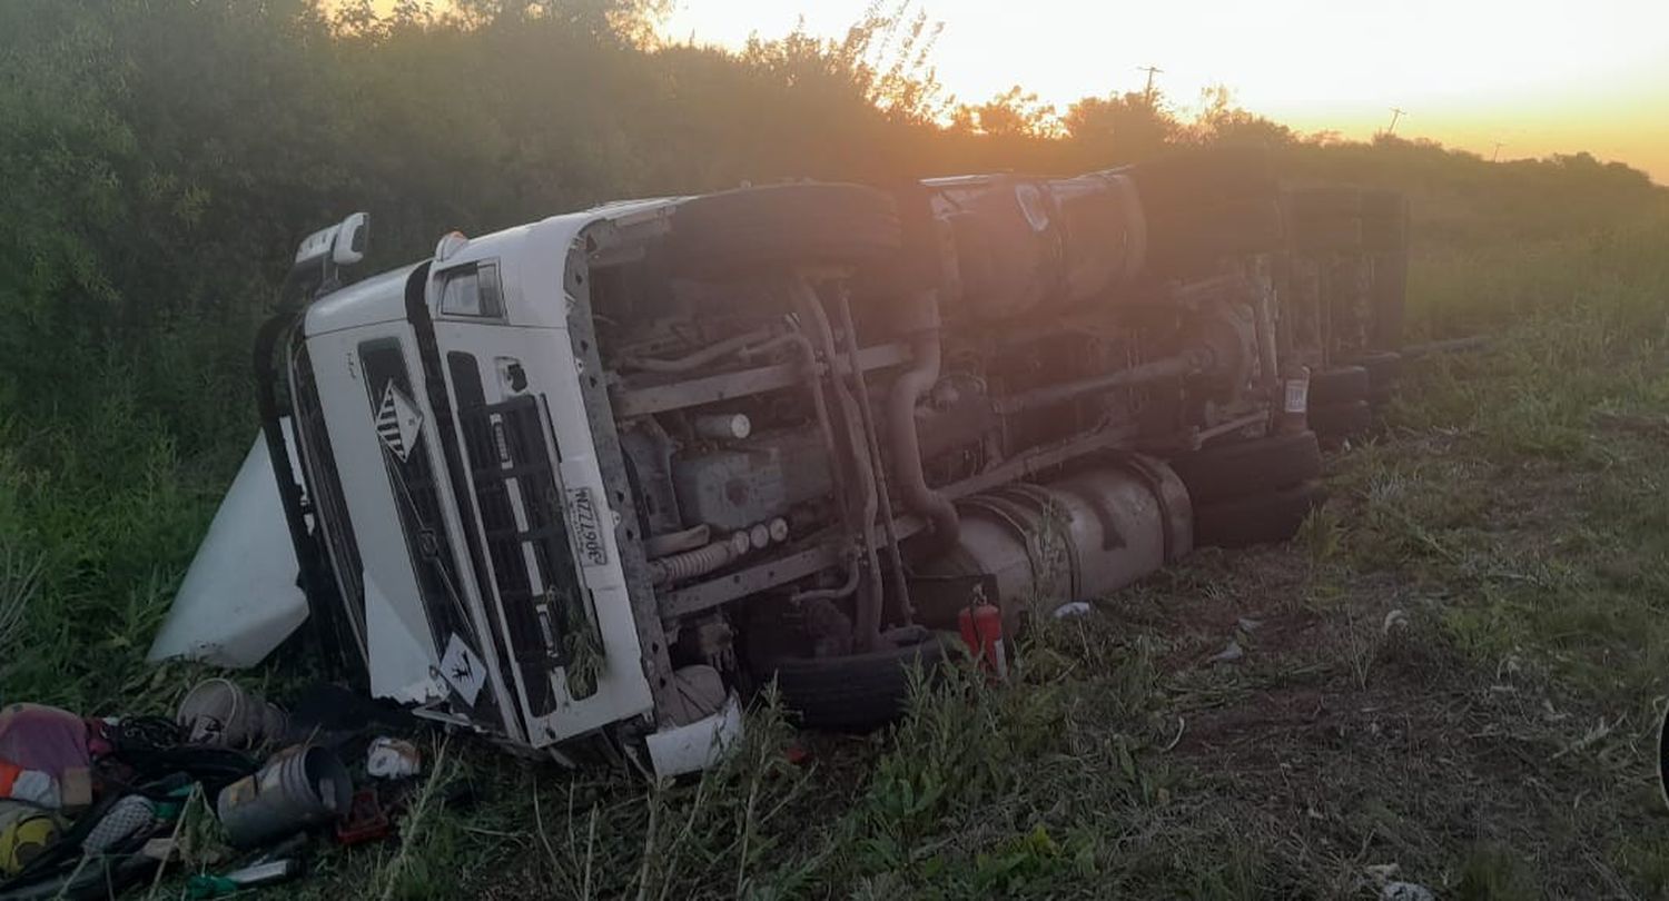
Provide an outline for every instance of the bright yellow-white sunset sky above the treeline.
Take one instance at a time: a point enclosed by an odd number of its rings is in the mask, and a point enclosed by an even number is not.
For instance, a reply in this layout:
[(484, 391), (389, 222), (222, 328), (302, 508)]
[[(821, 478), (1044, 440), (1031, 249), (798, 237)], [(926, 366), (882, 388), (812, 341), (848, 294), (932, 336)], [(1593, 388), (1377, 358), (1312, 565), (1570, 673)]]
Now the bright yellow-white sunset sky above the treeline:
[[(739, 47), (804, 17), (841, 35), (866, 0), (676, 0), (673, 40)], [(883, 3), (890, 8), (891, 3)], [(935, 63), (961, 102), (1020, 83), (1065, 110), (1142, 88), (1187, 113), (1200, 88), (1303, 132), (1404, 137), (1500, 159), (1589, 150), (1669, 184), (1669, 0), (916, 0), (943, 22)]]

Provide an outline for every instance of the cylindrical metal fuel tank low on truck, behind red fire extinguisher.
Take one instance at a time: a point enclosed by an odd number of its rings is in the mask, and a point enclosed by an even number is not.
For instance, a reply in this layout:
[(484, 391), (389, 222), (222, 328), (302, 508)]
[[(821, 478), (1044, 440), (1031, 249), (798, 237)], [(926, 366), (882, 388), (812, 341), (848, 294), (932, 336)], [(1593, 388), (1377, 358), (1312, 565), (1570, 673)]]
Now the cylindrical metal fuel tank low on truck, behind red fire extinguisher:
[(1041, 486), (1003, 486), (956, 509), (956, 546), (916, 572), (986, 576), (996, 591), (986, 601), (1001, 607), (1008, 634), (1028, 611), (1048, 616), (1100, 597), (1193, 549), (1188, 491), (1152, 457), (1125, 456)]

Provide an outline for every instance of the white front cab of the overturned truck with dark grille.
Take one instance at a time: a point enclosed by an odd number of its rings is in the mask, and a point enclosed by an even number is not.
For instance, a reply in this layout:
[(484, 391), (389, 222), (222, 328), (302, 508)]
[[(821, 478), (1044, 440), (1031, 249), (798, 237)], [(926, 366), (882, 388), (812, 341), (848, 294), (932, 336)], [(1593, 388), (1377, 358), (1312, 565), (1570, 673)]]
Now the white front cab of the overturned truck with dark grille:
[[(634, 517), (599, 466), (596, 339), (571, 322), (586, 245), (673, 204), (451, 234), (429, 262), (320, 292), (285, 332), (297, 476), (374, 696), (529, 749), (656, 731), (651, 679), (674, 674), (658, 619), (633, 614), (616, 531)], [(683, 719), (659, 726), (701, 717)]]

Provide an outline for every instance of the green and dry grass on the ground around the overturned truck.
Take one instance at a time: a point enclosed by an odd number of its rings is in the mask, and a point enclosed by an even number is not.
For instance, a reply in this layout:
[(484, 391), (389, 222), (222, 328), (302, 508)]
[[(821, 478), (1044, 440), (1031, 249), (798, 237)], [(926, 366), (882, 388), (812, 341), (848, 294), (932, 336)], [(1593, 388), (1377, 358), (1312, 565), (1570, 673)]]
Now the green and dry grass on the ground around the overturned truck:
[[(432, 788), (467, 779), (477, 804), (426, 804), (404, 843), (325, 853), (299, 888), (1372, 898), (1395, 864), (1454, 898), (1661, 896), (1664, 249), (1657, 220), (1424, 250), (1415, 330), (1494, 344), (1409, 365), (1298, 541), (1202, 551), (1051, 622), (1008, 686), (963, 672), (871, 737), (764, 709), (726, 768), (659, 786), (452, 739)], [(160, 711), (184, 672), (140, 656), (242, 437), (185, 459), (103, 385), (77, 429), (0, 424), (0, 601), (27, 597), (0, 684)], [(1230, 639), (1245, 657), (1208, 664)]]

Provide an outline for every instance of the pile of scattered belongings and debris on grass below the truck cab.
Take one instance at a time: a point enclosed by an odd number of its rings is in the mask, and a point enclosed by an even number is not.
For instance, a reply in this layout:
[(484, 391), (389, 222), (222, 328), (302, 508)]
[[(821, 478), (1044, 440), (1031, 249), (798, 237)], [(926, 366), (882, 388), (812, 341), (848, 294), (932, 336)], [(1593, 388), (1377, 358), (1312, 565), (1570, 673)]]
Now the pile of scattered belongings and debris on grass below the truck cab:
[[(227, 679), (194, 686), (174, 717), (0, 709), (0, 898), (115, 898), (174, 864), (195, 871), (185, 898), (222, 898), (300, 878), (319, 834), (396, 834), (422, 769), (397, 732), (416, 721), (344, 709), (319, 686), (300, 697), (295, 722)], [(292, 729), (302, 741), (284, 746)], [(344, 758), (374, 783), (355, 791)], [(471, 793), (449, 784), (442, 803)]]

